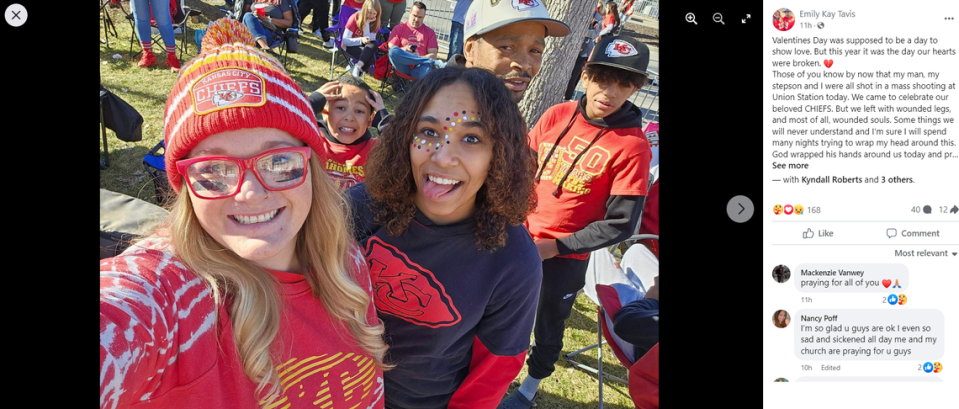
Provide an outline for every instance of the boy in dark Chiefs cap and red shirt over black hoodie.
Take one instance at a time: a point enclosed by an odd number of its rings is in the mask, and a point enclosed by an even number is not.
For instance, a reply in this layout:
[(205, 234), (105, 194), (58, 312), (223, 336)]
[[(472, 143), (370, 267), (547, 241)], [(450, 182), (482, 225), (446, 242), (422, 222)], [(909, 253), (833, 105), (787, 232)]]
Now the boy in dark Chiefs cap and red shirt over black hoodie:
[(548, 109), (530, 132), (537, 152), (537, 209), (526, 227), (543, 259), (529, 376), (500, 408), (529, 408), (553, 373), (563, 330), (586, 282), (589, 253), (632, 235), (649, 184), (643, 114), (627, 101), (646, 83), (649, 48), (603, 38), (583, 70), (586, 94)]

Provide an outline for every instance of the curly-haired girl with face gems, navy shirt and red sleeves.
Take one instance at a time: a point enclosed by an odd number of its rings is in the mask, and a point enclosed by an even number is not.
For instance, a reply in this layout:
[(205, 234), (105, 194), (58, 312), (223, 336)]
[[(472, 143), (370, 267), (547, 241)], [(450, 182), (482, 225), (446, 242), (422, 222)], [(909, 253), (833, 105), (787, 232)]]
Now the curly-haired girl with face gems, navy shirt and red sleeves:
[(522, 223), (535, 159), (479, 68), (419, 80), (346, 192), (386, 325), (387, 408), (495, 408), (523, 366), (542, 263)]

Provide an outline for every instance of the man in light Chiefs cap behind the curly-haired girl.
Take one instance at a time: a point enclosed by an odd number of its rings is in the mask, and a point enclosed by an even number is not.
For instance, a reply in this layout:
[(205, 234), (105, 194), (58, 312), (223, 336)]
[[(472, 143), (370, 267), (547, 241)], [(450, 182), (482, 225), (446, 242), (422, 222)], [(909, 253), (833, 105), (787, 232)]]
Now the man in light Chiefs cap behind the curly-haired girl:
[(569, 34), (566, 23), (549, 17), (543, 0), (476, 0), (466, 12), (463, 28), (463, 55), (452, 56), (447, 65), (492, 72), (516, 103), (539, 72), (546, 37)]

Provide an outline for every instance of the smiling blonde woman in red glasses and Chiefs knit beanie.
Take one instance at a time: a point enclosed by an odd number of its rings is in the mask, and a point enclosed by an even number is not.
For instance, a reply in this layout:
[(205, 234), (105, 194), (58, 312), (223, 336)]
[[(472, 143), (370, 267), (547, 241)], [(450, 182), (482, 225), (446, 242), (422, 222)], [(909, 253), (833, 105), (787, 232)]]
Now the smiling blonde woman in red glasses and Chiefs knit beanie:
[(169, 219), (100, 263), (100, 407), (382, 408), (383, 325), (299, 86), (218, 20), (164, 133)]

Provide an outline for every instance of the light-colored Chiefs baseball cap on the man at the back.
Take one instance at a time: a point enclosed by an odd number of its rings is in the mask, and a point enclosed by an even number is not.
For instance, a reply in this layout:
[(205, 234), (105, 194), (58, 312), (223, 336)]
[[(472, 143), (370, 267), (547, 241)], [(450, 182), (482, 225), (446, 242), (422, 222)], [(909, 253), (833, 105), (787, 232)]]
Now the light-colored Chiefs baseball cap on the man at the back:
[(536, 21), (546, 26), (547, 36), (569, 35), (569, 26), (550, 18), (543, 0), (474, 0), (466, 11), (463, 31), (466, 38), (470, 38), (521, 21)]

